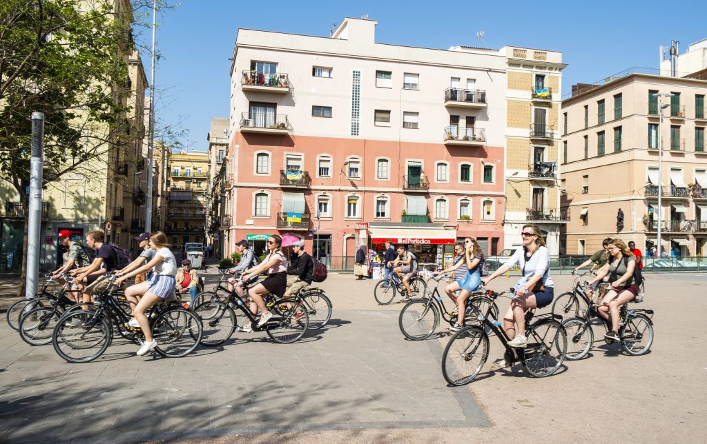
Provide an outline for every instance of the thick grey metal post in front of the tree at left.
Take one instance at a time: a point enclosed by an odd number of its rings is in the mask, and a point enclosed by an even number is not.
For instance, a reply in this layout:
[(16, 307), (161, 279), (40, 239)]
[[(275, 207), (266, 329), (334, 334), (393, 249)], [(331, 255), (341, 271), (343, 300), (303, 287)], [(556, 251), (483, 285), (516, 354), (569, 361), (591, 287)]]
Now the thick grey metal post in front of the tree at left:
[(30, 160), (30, 196), (27, 222), (27, 275), (25, 298), (37, 292), (40, 273), (40, 224), (42, 223), (42, 146), (44, 141), (44, 113), (32, 113), (32, 158)]

